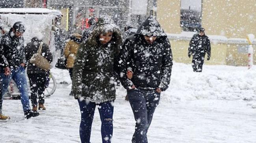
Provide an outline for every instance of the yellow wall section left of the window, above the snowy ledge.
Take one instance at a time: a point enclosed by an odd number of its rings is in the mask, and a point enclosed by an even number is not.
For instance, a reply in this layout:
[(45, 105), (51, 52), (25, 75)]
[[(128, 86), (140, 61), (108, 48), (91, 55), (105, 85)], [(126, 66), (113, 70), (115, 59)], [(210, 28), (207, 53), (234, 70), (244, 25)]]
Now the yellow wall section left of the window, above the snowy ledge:
[(157, 0), (157, 20), (166, 33), (180, 33), (180, 1)]

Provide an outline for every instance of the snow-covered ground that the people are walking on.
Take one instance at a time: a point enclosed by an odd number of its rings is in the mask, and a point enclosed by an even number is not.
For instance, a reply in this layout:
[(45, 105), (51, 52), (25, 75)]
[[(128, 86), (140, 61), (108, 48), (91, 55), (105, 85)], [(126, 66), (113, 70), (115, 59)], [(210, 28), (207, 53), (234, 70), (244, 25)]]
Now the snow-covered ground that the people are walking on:
[[(79, 143), (78, 103), (68, 94), (71, 80), (66, 70), (53, 69), (59, 83), (45, 100), (46, 111), (24, 119), (19, 100), (4, 100), (0, 122), (1, 143)], [(169, 89), (161, 94), (148, 132), (149, 143), (255, 143), (256, 68), (174, 63)], [(66, 82), (67, 84), (60, 84)], [(130, 143), (135, 121), (126, 93), (117, 87), (113, 143)], [(252, 108), (254, 107), (254, 108)], [(91, 142), (100, 143), (99, 112), (95, 112)]]

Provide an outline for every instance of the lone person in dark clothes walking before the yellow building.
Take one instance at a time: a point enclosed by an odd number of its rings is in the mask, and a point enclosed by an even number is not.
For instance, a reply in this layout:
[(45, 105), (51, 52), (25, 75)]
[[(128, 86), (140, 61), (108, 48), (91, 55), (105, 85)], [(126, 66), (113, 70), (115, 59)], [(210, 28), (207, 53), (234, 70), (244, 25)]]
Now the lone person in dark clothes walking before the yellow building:
[(200, 28), (199, 33), (193, 35), (189, 43), (188, 56), (189, 58), (191, 55), (193, 56), (192, 68), (194, 72), (202, 72), (206, 53), (207, 61), (209, 61), (211, 57), (211, 43), (204, 31), (204, 28)]

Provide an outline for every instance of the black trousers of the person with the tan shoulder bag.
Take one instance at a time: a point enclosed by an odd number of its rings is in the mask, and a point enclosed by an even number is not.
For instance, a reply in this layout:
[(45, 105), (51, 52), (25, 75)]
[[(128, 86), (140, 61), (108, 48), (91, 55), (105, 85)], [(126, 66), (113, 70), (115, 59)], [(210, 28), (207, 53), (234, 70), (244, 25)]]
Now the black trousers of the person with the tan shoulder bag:
[[(45, 83), (48, 80), (49, 76), (47, 73), (33, 73), (28, 74), (28, 79), (30, 83), (31, 90), (31, 104), (32, 106), (36, 106), (38, 103), (45, 103)], [(39, 97), (39, 101), (37, 103), (37, 95)]]

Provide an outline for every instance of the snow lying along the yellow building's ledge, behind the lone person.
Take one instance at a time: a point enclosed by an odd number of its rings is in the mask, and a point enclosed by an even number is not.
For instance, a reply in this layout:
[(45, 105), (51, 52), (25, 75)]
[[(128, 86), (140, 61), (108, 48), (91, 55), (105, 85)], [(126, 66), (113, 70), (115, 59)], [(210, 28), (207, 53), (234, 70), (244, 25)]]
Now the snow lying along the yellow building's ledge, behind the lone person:
[[(171, 40), (191, 40), (196, 32), (181, 32), (180, 34), (167, 33)], [(211, 42), (226, 43), (226, 44), (249, 44), (246, 38), (227, 38), (221, 35), (207, 35)], [(252, 40), (252, 44), (256, 44), (256, 39)]]

